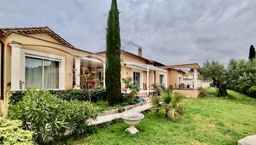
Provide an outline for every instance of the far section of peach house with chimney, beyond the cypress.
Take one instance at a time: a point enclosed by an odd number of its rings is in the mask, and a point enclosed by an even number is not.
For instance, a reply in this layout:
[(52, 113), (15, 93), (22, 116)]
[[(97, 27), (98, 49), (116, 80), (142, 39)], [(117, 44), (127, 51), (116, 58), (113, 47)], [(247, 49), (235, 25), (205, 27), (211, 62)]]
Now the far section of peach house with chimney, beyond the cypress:
[[(106, 57), (105, 51), (97, 54)], [(141, 92), (152, 92), (153, 84), (174, 88), (182, 83), (183, 71), (172, 67), (162, 69), (164, 64), (142, 57), (142, 48), (138, 48), (138, 55), (122, 50), (120, 57), (121, 78), (130, 76), (133, 83), (140, 85)]]

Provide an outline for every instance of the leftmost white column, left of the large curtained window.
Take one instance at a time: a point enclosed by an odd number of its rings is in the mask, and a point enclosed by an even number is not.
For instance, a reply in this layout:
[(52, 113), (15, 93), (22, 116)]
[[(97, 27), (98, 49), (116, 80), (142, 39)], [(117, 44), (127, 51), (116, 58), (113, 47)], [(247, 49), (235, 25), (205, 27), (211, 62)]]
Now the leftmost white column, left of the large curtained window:
[(11, 91), (20, 90), (20, 48), (21, 45), (13, 44), (12, 46), (12, 72), (11, 72)]

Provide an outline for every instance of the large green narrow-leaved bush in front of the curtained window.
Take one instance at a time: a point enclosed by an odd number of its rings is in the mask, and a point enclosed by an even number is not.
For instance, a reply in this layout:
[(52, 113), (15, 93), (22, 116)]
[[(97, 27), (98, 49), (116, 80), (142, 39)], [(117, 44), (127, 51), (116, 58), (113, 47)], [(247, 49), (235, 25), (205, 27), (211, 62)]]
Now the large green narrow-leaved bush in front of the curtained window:
[(88, 119), (96, 118), (97, 111), (89, 102), (62, 100), (47, 90), (26, 90), (22, 100), (11, 105), (8, 116), (22, 120), (23, 127), (35, 132), (38, 143), (58, 141), (65, 133), (89, 132)]

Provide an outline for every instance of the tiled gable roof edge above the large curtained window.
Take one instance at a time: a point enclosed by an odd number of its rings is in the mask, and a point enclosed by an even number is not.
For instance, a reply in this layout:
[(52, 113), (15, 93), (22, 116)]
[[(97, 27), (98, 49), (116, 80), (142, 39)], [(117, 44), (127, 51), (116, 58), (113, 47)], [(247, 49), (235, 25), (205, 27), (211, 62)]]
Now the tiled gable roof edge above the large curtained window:
[(49, 27), (12, 27), (12, 28), (0, 28), (0, 38), (3, 38), (4, 36), (8, 36), (11, 32), (19, 32), (22, 34), (40, 34), (45, 33), (51, 36), (53, 39), (58, 41), (61, 45), (65, 45), (68, 47), (74, 48), (68, 41), (61, 38), (58, 34), (53, 32)]

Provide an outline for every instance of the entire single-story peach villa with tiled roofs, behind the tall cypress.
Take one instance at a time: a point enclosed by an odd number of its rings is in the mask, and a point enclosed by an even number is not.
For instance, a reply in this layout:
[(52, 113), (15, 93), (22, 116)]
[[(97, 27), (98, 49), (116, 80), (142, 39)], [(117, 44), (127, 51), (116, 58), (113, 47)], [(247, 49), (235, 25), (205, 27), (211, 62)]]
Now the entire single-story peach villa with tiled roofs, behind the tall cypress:
[[(79, 89), (76, 84), (80, 84), (80, 77), (74, 76), (74, 70), (75, 73), (81, 72), (82, 67), (95, 71), (96, 77), (105, 86), (106, 52), (92, 53), (78, 49), (49, 27), (0, 29), (0, 43), (0, 111), (4, 114), (7, 113), (8, 97), (12, 92), (32, 86), (60, 90)], [(122, 50), (120, 57), (121, 78), (131, 76), (132, 81), (140, 85), (141, 92), (145, 93), (153, 90), (154, 83), (176, 88), (182, 83), (185, 72), (175, 68), (200, 69), (198, 64), (165, 66), (145, 59), (141, 48), (138, 48), (138, 55)], [(195, 88), (197, 87), (195, 83)]]

